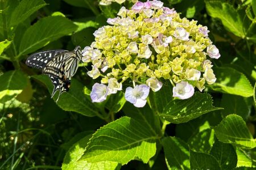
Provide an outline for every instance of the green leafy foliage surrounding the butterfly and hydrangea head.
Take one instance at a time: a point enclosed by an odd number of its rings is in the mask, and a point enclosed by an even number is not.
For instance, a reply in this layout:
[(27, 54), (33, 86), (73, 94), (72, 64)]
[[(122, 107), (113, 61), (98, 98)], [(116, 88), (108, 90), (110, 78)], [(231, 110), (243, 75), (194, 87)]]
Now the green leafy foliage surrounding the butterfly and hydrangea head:
[(56, 104), (56, 96), (49, 97), (53, 86), (48, 76), (24, 64), (40, 50), (90, 45), (92, 33), (121, 5), (0, 1), (0, 169), (256, 166), (256, 1), (163, 2), (207, 25), (221, 53), (213, 61), (217, 82), (187, 100), (173, 100), (171, 85), (164, 86), (139, 109), (125, 102), (123, 92), (92, 103), (95, 82), (84, 67)]

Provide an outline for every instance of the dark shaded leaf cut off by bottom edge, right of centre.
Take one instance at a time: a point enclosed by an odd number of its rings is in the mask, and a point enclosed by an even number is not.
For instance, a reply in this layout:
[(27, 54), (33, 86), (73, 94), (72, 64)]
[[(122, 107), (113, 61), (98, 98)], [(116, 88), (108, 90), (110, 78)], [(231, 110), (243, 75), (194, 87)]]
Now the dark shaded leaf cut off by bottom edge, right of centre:
[(190, 151), (191, 169), (221, 169), (217, 160), (209, 154)]

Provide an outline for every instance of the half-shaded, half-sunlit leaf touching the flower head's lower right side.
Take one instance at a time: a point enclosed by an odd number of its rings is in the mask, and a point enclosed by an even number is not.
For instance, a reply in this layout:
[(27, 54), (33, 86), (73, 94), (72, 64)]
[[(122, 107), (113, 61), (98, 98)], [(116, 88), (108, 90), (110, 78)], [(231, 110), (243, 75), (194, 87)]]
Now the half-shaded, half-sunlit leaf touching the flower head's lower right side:
[(216, 82), (209, 87), (213, 90), (243, 97), (253, 96), (253, 87), (245, 75), (229, 67), (217, 67), (214, 70)]

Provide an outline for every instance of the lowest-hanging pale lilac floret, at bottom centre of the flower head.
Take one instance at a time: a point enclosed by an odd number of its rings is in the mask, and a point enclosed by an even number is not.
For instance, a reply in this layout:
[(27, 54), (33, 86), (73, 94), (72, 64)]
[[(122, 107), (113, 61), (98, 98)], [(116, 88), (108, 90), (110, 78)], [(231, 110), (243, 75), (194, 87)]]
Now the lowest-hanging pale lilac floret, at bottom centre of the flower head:
[(135, 107), (142, 108), (147, 103), (147, 96), (150, 88), (146, 84), (136, 85), (134, 88), (127, 87), (125, 90), (125, 99)]

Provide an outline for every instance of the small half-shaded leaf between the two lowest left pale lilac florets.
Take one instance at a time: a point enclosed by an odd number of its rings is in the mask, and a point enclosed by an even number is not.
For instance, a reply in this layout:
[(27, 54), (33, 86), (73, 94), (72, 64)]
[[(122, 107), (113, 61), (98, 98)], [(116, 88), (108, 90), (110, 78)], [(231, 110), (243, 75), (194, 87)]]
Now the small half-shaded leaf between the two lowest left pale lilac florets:
[(105, 107), (109, 109), (110, 112), (117, 113), (122, 109), (123, 105), (125, 105), (125, 102), (125, 94), (122, 91), (119, 91), (117, 94), (109, 96), (108, 101), (105, 103)]

